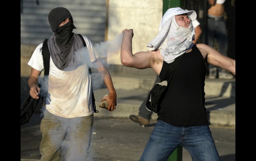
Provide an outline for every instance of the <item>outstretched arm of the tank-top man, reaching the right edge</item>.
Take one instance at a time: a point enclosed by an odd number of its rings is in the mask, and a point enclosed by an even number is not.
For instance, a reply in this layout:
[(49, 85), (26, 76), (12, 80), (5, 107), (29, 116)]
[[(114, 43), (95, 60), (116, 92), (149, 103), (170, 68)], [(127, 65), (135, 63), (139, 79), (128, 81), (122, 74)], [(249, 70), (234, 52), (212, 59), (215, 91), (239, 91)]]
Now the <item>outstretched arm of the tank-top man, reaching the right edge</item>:
[(198, 49), (201, 51), (203, 57), (207, 56), (207, 62), (219, 66), (225, 70), (230, 71), (235, 75), (235, 60), (222, 55), (211, 46), (205, 44), (197, 44)]

